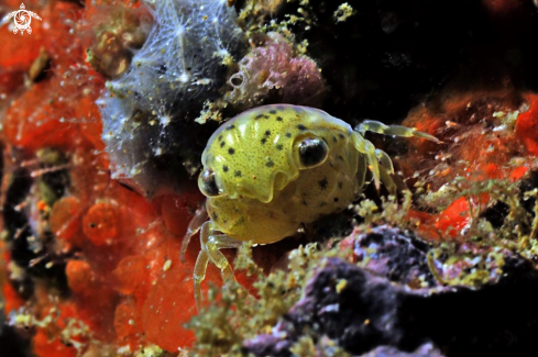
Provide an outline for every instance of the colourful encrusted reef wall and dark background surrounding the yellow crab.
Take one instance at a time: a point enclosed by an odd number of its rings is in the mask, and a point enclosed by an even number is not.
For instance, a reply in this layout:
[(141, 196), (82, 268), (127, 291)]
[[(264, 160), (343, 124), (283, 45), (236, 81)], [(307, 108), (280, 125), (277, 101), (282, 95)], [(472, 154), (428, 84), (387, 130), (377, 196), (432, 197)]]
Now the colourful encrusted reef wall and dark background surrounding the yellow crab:
[[(6, 356), (536, 349), (536, 1), (24, 4), (42, 18), (32, 33), (0, 23)], [(4, 0), (0, 19), (20, 5)], [(199, 243), (179, 252), (205, 199), (201, 153), (272, 103), (440, 143), (367, 133), (397, 193), (369, 174), (294, 237), (253, 246), (252, 232), (223, 250), (239, 283), (210, 265), (197, 313)]]

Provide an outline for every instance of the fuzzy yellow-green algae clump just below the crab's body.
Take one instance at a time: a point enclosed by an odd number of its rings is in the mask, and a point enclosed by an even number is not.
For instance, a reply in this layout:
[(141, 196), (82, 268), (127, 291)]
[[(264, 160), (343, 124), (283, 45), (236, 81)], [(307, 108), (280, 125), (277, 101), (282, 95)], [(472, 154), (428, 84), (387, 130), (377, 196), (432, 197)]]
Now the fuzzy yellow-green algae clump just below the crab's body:
[(253, 283), (257, 299), (245, 293), (237, 282), (228, 282), (221, 291), (212, 287), (209, 301), (217, 297), (220, 301), (188, 324), (197, 338), (193, 353), (196, 356), (241, 356), (243, 341), (270, 333), (278, 319), (299, 300), (309, 268), (319, 256), (317, 245), (301, 246), (289, 254), (289, 271), (265, 276), (252, 259), (251, 244), (244, 244), (234, 267), (257, 279)]

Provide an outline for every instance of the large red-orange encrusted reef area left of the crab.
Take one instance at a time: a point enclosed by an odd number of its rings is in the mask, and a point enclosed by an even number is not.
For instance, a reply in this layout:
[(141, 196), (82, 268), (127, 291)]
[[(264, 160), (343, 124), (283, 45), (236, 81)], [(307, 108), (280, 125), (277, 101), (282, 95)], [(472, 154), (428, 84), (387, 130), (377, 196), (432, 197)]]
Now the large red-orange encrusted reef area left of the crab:
[[(92, 23), (102, 8), (28, 5), (46, 20), (34, 27), (35, 37), (9, 42), (20, 60), (19, 67), (6, 64), (11, 67), (2, 81), (6, 321), (26, 332), (36, 356), (163, 355), (188, 346), (193, 334), (183, 324), (194, 314), (194, 300), (184, 292), (191, 291), (187, 266), (195, 257), (180, 265), (177, 236), (200, 197), (189, 191), (150, 203), (110, 179), (95, 103), (103, 78), (85, 62), (84, 43), (94, 30), (80, 22), (87, 11)], [(107, 7), (119, 14), (134, 11), (120, 2)], [(130, 32), (120, 33), (125, 38)], [(35, 40), (43, 49), (29, 54)], [(101, 69), (114, 67), (105, 63), (92, 62)], [(41, 72), (17, 81), (32, 70)], [(182, 295), (186, 300), (176, 299)]]

